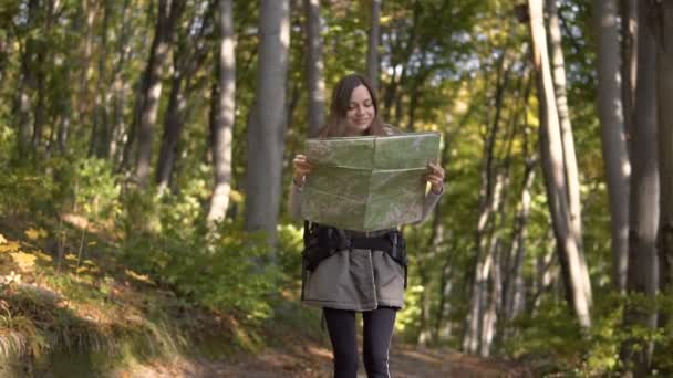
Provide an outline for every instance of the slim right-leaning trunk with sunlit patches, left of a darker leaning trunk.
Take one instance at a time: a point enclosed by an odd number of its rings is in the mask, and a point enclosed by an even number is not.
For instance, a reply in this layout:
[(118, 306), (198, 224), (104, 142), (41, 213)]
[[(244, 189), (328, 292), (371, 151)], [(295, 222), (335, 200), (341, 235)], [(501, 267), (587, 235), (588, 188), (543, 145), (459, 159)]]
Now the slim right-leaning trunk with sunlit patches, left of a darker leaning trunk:
[(179, 18), (182, 10), (183, 2), (178, 0), (159, 0), (158, 2), (156, 29), (145, 67), (143, 91), (137, 97), (137, 101), (142, 103), (136, 161), (136, 177), (141, 187), (147, 185), (149, 176), (152, 139), (162, 97), (162, 66), (168, 57), (174, 22)]

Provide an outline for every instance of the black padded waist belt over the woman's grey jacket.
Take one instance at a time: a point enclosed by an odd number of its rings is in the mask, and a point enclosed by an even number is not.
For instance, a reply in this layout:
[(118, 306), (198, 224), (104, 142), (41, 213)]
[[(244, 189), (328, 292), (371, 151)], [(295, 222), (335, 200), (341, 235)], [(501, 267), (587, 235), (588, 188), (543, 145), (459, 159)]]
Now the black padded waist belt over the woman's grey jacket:
[(383, 251), (404, 269), (406, 288), (406, 243), (398, 230), (391, 230), (377, 237), (349, 237), (343, 230), (304, 221), (303, 239), (304, 271), (313, 271), (320, 262), (339, 251)]

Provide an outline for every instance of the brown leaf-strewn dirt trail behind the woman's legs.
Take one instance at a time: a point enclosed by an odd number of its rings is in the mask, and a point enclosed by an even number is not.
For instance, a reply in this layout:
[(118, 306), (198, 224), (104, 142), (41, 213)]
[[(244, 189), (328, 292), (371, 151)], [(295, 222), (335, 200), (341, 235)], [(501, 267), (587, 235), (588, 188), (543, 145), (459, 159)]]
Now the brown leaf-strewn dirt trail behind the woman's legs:
[[(328, 378), (331, 377), (331, 351), (327, 346), (303, 343), (287, 348), (267, 349), (256, 356), (241, 355), (229, 360), (175, 360), (146, 364), (117, 371), (115, 378), (168, 377), (250, 377), (250, 378)], [(391, 374), (396, 378), (434, 377), (532, 377), (515, 363), (467, 356), (452, 350), (433, 350), (393, 345)], [(362, 361), (358, 377), (365, 378)]]

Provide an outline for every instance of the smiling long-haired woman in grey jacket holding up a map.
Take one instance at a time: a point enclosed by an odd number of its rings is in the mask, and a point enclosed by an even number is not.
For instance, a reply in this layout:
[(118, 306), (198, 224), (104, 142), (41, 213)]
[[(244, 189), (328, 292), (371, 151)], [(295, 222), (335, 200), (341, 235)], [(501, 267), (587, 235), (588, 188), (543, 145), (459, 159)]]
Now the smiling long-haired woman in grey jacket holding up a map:
[[(367, 80), (358, 74), (343, 77), (334, 88), (328, 125), (320, 137), (389, 136), (395, 130), (379, 116), (376, 97)], [(301, 187), (312, 166), (297, 155), (293, 165), (290, 209), (300, 214)], [(423, 218), (434, 208), (444, 189), (444, 170), (428, 165)], [(306, 232), (306, 231), (304, 231)], [(391, 230), (356, 232), (340, 230), (352, 238), (375, 238)], [(387, 361), (395, 315), (404, 306), (404, 270), (385, 251), (351, 249), (321, 261), (308, 275), (302, 292), (306, 304), (321, 306), (332, 343), (334, 377), (356, 377), (358, 344), (355, 313), (363, 318), (363, 360), (367, 377), (390, 377)]]

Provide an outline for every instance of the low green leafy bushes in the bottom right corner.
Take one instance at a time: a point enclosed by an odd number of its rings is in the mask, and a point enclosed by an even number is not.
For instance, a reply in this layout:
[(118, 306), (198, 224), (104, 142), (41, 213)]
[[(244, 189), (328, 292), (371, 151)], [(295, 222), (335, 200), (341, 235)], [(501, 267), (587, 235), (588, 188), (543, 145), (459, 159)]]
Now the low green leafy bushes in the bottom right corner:
[[(671, 300), (640, 294), (605, 293), (597, 296), (592, 328), (582, 332), (565, 302), (546, 297), (532, 314), (524, 314), (507, 325), (515, 334), (501, 345), (503, 351), (535, 366), (540, 376), (603, 377), (632, 369), (621, 355), (638, 354), (654, 346), (670, 350), (673, 333), (666, 327), (650, 328), (648, 314), (670, 313)], [(627, 315), (624, 315), (627, 314)], [(627, 316), (627, 317), (624, 317)], [(629, 350), (625, 353), (625, 350)], [(625, 354), (624, 354), (625, 353)], [(654, 353), (652, 375), (673, 371), (670, 354)]]

